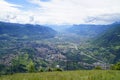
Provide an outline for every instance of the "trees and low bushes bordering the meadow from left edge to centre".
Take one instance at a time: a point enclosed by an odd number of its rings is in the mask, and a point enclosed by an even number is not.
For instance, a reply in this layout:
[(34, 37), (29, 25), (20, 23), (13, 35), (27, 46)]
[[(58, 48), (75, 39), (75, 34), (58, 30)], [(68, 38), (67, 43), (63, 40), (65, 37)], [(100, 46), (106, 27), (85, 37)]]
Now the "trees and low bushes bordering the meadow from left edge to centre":
[[(29, 56), (29, 54), (20, 54), (14, 59), (12, 59), (10, 65), (3, 65), (0, 64), (0, 75), (5, 75), (5, 74), (13, 74), (13, 73), (32, 73), (32, 72), (45, 72), (45, 71), (63, 71), (63, 69), (56, 67), (56, 68), (51, 68), (49, 66), (46, 66), (44, 64), (41, 65), (44, 66), (39, 66), (38, 64), (32, 60)], [(39, 63), (40, 64), (40, 63)]]

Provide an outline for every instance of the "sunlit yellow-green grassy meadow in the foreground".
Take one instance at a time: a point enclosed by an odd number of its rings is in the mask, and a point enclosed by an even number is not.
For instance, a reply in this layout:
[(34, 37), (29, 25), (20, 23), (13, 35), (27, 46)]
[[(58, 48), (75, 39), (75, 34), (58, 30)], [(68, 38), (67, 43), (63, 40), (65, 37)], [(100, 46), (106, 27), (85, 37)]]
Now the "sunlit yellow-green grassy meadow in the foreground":
[(120, 80), (120, 71), (80, 70), (3, 75), (0, 80)]

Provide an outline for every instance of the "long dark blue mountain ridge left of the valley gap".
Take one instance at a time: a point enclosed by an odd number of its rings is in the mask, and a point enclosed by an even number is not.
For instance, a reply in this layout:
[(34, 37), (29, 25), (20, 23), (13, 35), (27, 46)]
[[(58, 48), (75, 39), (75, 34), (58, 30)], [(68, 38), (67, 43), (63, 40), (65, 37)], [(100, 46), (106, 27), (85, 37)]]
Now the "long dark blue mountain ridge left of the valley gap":
[(3, 35), (0, 39), (5, 36), (21, 39), (53, 38), (56, 33), (55, 30), (41, 25), (0, 22), (0, 35)]

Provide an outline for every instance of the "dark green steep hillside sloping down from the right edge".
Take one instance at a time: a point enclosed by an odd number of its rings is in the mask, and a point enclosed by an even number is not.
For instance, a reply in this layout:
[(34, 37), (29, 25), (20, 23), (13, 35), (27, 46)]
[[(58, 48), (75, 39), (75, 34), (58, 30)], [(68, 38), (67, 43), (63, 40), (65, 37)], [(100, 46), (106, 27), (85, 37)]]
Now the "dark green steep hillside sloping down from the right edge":
[(112, 24), (111, 26), (105, 33), (96, 38), (93, 43), (108, 50), (109, 54), (114, 55), (114, 62), (117, 62), (120, 60), (120, 24)]

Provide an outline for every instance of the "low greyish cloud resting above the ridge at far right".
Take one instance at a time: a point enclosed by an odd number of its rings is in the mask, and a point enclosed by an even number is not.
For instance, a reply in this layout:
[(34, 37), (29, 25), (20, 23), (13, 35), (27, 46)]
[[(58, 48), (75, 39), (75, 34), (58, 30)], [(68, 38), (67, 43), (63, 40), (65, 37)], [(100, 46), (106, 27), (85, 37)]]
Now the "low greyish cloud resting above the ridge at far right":
[(120, 21), (120, 13), (90, 16), (85, 20), (87, 24), (111, 24), (118, 21)]

